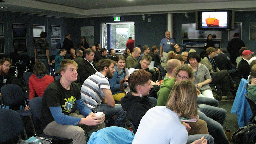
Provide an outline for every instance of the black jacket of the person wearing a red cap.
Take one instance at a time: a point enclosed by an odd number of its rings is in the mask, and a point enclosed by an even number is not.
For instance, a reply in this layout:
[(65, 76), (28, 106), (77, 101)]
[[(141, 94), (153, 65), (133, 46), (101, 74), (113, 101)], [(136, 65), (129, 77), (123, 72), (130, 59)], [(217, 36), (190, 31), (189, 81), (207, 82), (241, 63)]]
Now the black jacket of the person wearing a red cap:
[(238, 64), (237, 71), (242, 76), (242, 78), (247, 80), (248, 76), (250, 75), (251, 66), (246, 60), (242, 59)]

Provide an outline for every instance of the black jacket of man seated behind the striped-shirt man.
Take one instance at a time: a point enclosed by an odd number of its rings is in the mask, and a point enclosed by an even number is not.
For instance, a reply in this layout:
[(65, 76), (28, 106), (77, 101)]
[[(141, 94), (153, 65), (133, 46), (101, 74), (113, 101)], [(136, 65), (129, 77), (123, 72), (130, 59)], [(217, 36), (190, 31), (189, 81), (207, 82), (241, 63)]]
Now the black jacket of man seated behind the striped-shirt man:
[[(92, 62), (95, 69), (96, 63)], [(80, 83), (83, 85), (84, 81), (91, 75), (95, 74), (97, 71), (92, 67), (92, 65), (85, 59), (78, 65), (77, 73), (80, 78)]]

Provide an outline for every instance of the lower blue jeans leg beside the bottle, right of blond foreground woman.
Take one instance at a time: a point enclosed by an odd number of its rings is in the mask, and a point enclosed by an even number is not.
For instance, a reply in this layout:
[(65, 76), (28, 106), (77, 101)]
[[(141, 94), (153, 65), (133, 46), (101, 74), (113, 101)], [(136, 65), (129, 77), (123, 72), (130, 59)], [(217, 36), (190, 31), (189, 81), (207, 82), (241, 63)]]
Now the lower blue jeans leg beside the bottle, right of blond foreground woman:
[(228, 138), (223, 130), (223, 122), (227, 111), (223, 108), (213, 107), (205, 104), (197, 105), (199, 119), (207, 123), (209, 134), (217, 144), (229, 144)]

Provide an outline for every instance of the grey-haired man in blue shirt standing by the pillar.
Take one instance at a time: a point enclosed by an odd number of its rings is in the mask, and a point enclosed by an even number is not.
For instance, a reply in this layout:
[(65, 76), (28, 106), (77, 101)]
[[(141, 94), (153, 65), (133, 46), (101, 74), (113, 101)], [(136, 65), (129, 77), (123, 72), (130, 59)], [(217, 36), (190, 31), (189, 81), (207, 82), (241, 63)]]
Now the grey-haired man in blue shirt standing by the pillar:
[[(170, 52), (173, 49), (173, 46), (175, 45), (175, 41), (173, 38), (170, 37), (170, 32), (165, 32), (165, 38), (163, 38), (160, 42), (160, 54), (159, 57), (163, 57), (163, 63), (166, 63), (168, 61), (168, 52)], [(171, 48), (172, 47), (172, 48)]]

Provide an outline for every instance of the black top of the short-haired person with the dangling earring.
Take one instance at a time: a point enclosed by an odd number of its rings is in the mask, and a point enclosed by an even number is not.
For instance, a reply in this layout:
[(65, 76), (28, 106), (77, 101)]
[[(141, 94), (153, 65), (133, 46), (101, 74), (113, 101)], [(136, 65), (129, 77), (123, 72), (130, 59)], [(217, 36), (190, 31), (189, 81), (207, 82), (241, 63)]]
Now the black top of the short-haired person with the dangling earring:
[(153, 108), (152, 101), (147, 97), (138, 97), (133, 95), (126, 95), (121, 99), (123, 110), (126, 110), (126, 117), (134, 124), (135, 129), (138, 129), (141, 118), (145, 113)]

